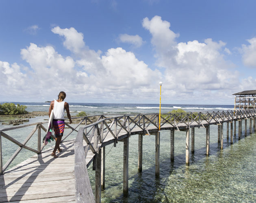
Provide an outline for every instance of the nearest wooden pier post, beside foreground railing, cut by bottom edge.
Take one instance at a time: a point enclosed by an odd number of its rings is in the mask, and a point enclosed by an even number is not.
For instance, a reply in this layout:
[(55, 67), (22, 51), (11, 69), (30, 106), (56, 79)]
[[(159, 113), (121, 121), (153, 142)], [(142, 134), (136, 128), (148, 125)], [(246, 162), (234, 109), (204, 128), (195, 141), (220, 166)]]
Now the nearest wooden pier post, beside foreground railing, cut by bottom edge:
[(95, 154), (96, 168), (95, 168), (95, 202), (100, 203), (101, 196), (101, 148), (98, 153)]

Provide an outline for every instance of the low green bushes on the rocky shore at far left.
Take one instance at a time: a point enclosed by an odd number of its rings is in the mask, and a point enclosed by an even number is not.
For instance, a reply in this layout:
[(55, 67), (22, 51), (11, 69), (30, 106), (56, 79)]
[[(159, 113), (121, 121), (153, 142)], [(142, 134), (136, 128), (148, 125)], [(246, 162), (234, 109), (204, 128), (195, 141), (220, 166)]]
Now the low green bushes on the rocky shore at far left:
[(0, 104), (0, 114), (1, 115), (17, 115), (17, 114), (26, 114), (28, 113), (25, 109), (27, 107), (24, 105), (15, 104), (13, 103), (4, 103)]

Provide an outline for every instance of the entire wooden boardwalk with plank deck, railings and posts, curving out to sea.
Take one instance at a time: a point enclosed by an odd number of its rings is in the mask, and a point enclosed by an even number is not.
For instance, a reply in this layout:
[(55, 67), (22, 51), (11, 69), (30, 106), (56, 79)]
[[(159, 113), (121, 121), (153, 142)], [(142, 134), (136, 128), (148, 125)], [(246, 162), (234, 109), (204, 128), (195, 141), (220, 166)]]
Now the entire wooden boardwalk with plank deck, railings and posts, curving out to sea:
[[(202, 115), (186, 114), (185, 116), (165, 115), (164, 118), (161, 118), (163, 119), (161, 120), (161, 130), (173, 130), (173, 136), (174, 130), (186, 131), (188, 132), (186, 137), (188, 136), (189, 138), (190, 128), (207, 128), (210, 125), (221, 125), (223, 127), (223, 123), (236, 120), (240, 123), (241, 119), (253, 118), (256, 115), (255, 110), (240, 113), (236, 115), (232, 112), (228, 112), (227, 114), (225, 112)], [(45, 151), (38, 150), (37, 154), (33, 157), (4, 171), (4, 174), (0, 175), (0, 202), (85, 202), (85, 199), (88, 200), (88, 198), (90, 199), (88, 202), (94, 202), (94, 196), (86, 169), (93, 161), (95, 161), (93, 168), (95, 169), (95, 185), (97, 185), (95, 188), (95, 201), (100, 202), (100, 185), (102, 184), (102, 180), (100, 180), (100, 173), (102, 172), (100, 171), (103, 171), (102, 174), (104, 174), (105, 167), (104, 164), (100, 164), (100, 162), (104, 160), (104, 153), (102, 153), (104, 146), (112, 143), (114, 143), (115, 146), (119, 141), (124, 142), (124, 168), (128, 168), (128, 160), (127, 163), (125, 163), (125, 157), (126, 154), (128, 154), (128, 149), (125, 148), (125, 146), (128, 145), (128, 138), (135, 134), (141, 136), (143, 134), (155, 134), (156, 140), (160, 140), (158, 137), (160, 133), (158, 132), (157, 123), (158, 117), (156, 114), (138, 114), (111, 118), (100, 117), (97, 122), (91, 122), (90, 124), (84, 125), (84, 127), (80, 127), (76, 140), (72, 139), (61, 143), (62, 151), (61, 153), (57, 153), (59, 158), (53, 158), (50, 155), (53, 150), (52, 148)], [(252, 122), (250, 122), (250, 127), (251, 123)], [(79, 125), (80, 124), (78, 124), (78, 126)], [(239, 126), (240, 132), (241, 125), (239, 124)], [(41, 126), (41, 128), (43, 129), (43, 126)], [(40, 127), (37, 127), (37, 129), (40, 131)], [(72, 129), (73, 131), (75, 130), (75, 128)], [(1, 136), (11, 140), (4, 131), (5, 130), (2, 130), (2, 132), (0, 132), (2, 133)], [(41, 142), (39, 133), (38, 138)], [(12, 141), (17, 143), (20, 147), (26, 147), (25, 142), (25, 144), (22, 145), (16, 140)], [(156, 151), (158, 147), (159, 146), (156, 145)], [(40, 146), (38, 149), (40, 149)], [(127, 151), (125, 151), (125, 149)], [(186, 147), (186, 153), (187, 152), (189, 152), (189, 143), (188, 149)], [(156, 170), (159, 172), (159, 154), (156, 155), (156, 164), (158, 165)], [(124, 186), (125, 184), (128, 186), (128, 170), (125, 172), (127, 174), (124, 175)], [(126, 190), (128, 190), (128, 188), (126, 188)], [(91, 199), (93, 199), (93, 201)]]

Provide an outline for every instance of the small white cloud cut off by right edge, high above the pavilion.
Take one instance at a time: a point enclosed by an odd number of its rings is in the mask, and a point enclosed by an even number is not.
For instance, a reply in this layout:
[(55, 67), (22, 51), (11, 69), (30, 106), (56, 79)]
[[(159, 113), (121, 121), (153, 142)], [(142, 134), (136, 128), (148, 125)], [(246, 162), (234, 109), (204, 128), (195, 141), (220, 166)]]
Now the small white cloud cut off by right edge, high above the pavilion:
[(243, 63), (245, 66), (256, 68), (256, 37), (247, 41), (250, 45), (242, 45)]

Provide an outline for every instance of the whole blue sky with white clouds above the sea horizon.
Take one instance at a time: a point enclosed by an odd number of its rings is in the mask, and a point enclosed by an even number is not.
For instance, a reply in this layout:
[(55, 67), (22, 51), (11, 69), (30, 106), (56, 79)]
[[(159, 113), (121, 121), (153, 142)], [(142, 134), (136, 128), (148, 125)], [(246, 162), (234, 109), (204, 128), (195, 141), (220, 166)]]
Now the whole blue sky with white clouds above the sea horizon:
[(254, 0), (1, 0), (0, 102), (233, 104), (256, 89)]

